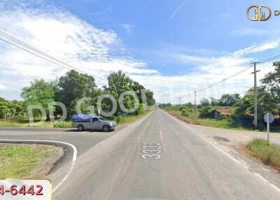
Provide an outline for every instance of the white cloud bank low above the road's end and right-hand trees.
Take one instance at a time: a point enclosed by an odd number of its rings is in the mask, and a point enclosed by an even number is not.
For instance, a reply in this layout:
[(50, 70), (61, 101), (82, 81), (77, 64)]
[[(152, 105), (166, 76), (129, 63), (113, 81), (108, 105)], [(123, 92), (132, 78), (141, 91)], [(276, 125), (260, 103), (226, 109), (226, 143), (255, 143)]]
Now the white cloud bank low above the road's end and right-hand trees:
[[(173, 57), (177, 57), (177, 59), (181, 57), (180, 62), (196, 64), (195, 71), (179, 76), (162, 76), (158, 74), (152, 76), (135, 75), (133, 78), (155, 91), (155, 97), (158, 101), (179, 103), (179, 97), (185, 97), (182, 99), (182, 102), (193, 102), (195, 90), (200, 90), (208, 85), (218, 83), (224, 78), (229, 78), (239, 71), (244, 71), (215, 87), (197, 92), (197, 102), (203, 97), (219, 98), (221, 94), (225, 93), (244, 94), (248, 90), (246, 87), (253, 87), (253, 75), (251, 74), (253, 69), (250, 67), (250, 63), (255, 61), (254, 57), (246, 56), (253, 55), (256, 52), (279, 48), (279, 44), (280, 41), (277, 40), (261, 43), (260, 45), (252, 45), (220, 57), (183, 55), (181, 52), (177, 54), (174, 52), (174, 55), (177, 56)], [(262, 64), (258, 68), (261, 70), (258, 73), (258, 80), (274, 69), (272, 63)]]

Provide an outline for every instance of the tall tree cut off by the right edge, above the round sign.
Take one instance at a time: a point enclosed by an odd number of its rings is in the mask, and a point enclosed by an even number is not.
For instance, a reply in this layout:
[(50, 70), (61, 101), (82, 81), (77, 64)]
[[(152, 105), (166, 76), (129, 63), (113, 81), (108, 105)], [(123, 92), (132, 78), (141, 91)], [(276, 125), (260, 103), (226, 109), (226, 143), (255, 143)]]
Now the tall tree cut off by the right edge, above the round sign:
[(272, 101), (280, 103), (280, 62), (274, 62), (273, 66), (275, 70), (267, 73), (261, 81), (265, 90), (272, 95)]

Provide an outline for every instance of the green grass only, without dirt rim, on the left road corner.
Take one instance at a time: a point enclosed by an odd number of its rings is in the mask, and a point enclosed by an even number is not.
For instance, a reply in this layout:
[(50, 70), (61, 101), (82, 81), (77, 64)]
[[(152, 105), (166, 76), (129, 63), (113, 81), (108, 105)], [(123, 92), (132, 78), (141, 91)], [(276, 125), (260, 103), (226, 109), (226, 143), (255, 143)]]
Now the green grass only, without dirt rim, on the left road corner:
[(48, 161), (58, 148), (52, 145), (1, 143), (0, 179), (29, 176), (32, 171), (36, 170), (41, 161)]

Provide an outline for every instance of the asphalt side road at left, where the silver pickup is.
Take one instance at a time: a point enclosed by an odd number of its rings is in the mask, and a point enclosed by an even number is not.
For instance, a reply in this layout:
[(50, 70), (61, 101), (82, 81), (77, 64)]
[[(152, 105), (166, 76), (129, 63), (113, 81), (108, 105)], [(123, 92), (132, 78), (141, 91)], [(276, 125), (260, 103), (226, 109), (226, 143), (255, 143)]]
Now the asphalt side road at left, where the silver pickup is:
[[(101, 131), (83, 131), (79, 132), (76, 129), (39, 129), (39, 128), (13, 128), (13, 127), (0, 127), (0, 142), (1, 140), (38, 140), (38, 141), (57, 141), (70, 143), (77, 149), (77, 155), (82, 155), (94, 145), (97, 145), (101, 141), (106, 140), (118, 133), (124, 127), (118, 127), (115, 131), (107, 133)], [(5, 141), (8, 142), (8, 141)], [(15, 141), (12, 141), (13, 143)], [(19, 141), (19, 143), (21, 143)], [(28, 143), (25, 141), (25, 143)], [(33, 142), (32, 142), (33, 143)], [(37, 142), (45, 143), (45, 142)], [(62, 145), (59, 143), (54, 143)], [(52, 169), (52, 172), (56, 171), (65, 164), (72, 162), (73, 148), (69, 145), (62, 145), (64, 147), (64, 157), (59, 159), (59, 162)]]

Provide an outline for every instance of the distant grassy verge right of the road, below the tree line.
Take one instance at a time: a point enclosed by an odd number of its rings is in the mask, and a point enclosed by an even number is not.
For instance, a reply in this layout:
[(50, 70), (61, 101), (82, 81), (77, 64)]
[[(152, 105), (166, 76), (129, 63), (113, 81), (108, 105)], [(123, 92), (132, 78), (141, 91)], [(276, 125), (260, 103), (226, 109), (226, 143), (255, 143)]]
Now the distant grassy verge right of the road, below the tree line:
[(189, 124), (197, 124), (204, 127), (214, 127), (221, 129), (240, 129), (246, 130), (244, 127), (232, 124), (228, 120), (214, 120), (214, 119), (201, 119), (195, 115), (195, 113), (190, 113), (188, 117), (182, 116), (180, 111), (167, 111), (170, 115), (179, 118), (183, 122), (187, 122)]

